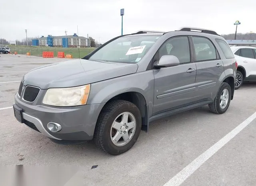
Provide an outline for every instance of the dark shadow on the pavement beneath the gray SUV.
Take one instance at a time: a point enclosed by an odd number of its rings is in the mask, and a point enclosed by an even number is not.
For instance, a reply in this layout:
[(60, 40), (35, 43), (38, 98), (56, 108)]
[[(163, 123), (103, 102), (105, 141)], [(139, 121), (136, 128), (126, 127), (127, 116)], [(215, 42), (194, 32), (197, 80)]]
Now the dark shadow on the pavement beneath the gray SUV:
[[(141, 131), (139, 139), (137, 140), (136, 144), (127, 153), (130, 153), (136, 148), (150, 148), (150, 146), (148, 145), (150, 145), (151, 142), (154, 142), (154, 140), (157, 140), (156, 136), (167, 135), (166, 137), (168, 138), (166, 130), (172, 131), (172, 129), (177, 129), (177, 127), (179, 127), (180, 125), (182, 125), (182, 127), (186, 127), (186, 125), (190, 125), (191, 120), (195, 119), (196, 117), (199, 117), (200, 115), (205, 115), (207, 113), (210, 115), (215, 115), (213, 113), (210, 113), (208, 106), (204, 106), (154, 121), (150, 123), (148, 133)], [(156, 133), (158, 133), (158, 135), (156, 135)], [(44, 138), (44, 140), (47, 141), (47, 145), (44, 146), (45, 150), (47, 148), (50, 148), (50, 151), (61, 151), (62, 156), (72, 156), (72, 159), (88, 156), (90, 156), (90, 158), (94, 157), (96, 159), (102, 157), (114, 157), (112, 155), (102, 152), (102, 150), (100, 150), (96, 146), (94, 140), (82, 142), (79, 144), (56, 144), (52, 142), (50, 139), (47, 139), (46, 137)], [(144, 146), (144, 144), (146, 144), (146, 146)], [(120, 156), (122, 156), (122, 154)]]

